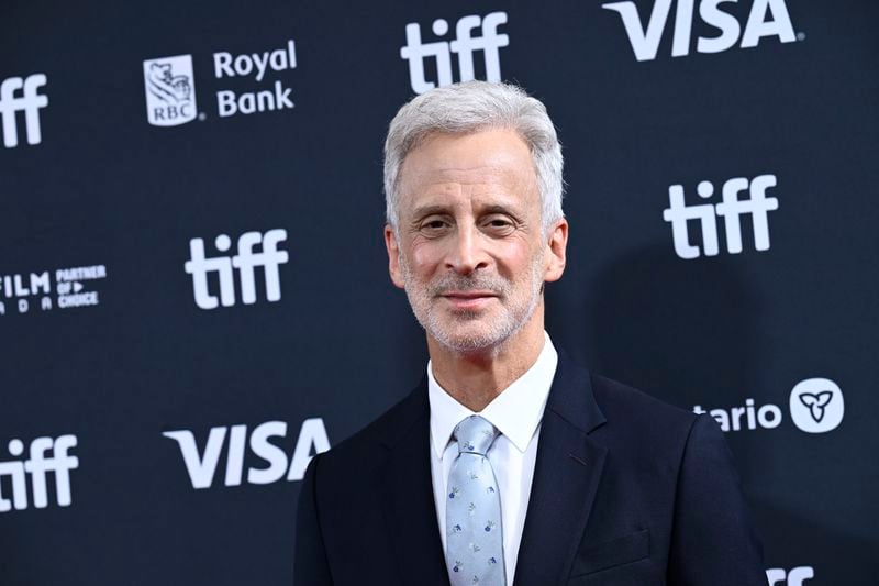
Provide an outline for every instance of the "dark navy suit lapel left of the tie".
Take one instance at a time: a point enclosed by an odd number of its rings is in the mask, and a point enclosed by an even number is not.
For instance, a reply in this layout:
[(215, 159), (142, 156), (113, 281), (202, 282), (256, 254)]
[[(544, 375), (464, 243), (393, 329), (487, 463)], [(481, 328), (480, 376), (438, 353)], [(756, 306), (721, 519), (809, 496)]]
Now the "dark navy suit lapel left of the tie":
[(426, 379), (407, 399), (401, 416), (383, 442), (383, 490), (376, 495), (383, 502), (392, 562), (405, 583), (448, 586), (433, 501)]

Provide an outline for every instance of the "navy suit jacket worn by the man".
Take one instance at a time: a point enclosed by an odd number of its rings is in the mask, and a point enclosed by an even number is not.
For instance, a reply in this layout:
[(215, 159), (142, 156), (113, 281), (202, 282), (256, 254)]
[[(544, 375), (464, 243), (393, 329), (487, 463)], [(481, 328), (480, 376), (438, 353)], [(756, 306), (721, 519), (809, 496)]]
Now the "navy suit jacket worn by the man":
[[(297, 586), (448, 586), (430, 464), (426, 379), (314, 457)], [(723, 433), (559, 351), (514, 586), (766, 586)]]

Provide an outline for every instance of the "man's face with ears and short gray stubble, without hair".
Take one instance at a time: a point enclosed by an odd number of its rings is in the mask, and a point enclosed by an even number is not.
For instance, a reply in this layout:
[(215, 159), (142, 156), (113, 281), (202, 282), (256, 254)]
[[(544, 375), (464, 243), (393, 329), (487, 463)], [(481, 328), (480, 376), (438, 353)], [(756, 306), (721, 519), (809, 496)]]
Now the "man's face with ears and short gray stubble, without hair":
[(542, 230), (525, 142), (509, 130), (431, 135), (403, 162), (399, 189), (398, 232), (385, 240), (419, 322), (457, 352), (507, 342), (565, 265), (567, 223)]

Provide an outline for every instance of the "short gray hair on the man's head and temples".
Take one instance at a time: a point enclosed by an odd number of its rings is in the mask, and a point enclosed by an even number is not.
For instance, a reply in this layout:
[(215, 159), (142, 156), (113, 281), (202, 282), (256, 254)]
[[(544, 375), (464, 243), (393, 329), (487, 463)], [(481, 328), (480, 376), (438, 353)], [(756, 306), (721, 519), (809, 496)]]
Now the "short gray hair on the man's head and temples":
[(489, 129), (513, 130), (528, 145), (541, 195), (543, 231), (564, 218), (561, 145), (546, 107), (518, 86), (466, 81), (413, 98), (391, 120), (385, 141), (385, 204), (394, 232), (400, 168), (407, 155), (434, 132), (469, 134)]

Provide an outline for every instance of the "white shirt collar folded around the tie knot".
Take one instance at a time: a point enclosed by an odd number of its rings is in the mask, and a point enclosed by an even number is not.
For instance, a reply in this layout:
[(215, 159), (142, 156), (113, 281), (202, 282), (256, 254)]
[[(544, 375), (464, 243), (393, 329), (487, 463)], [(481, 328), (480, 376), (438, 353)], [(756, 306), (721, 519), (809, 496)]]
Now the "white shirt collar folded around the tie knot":
[[(549, 335), (544, 332), (544, 344), (537, 361), (516, 378), (494, 400), (486, 406), (481, 414), (524, 453), (543, 419), (549, 387), (553, 385), (558, 354)], [(427, 399), (431, 405), (431, 439), (436, 457), (452, 441), (452, 432), (464, 418), (474, 411), (456, 401), (433, 376), (427, 362)]]

